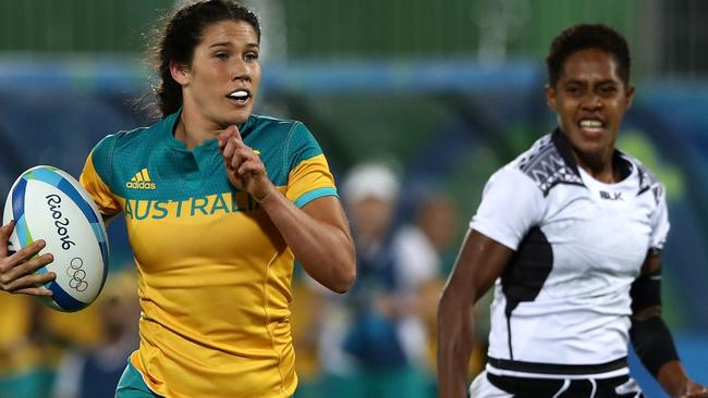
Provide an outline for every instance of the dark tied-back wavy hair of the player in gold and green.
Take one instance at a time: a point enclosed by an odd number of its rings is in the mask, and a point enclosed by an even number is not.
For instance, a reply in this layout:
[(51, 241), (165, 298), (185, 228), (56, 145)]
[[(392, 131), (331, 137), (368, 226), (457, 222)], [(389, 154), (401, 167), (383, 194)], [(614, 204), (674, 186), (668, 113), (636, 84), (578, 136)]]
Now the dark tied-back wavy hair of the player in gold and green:
[(260, 42), (260, 24), (258, 17), (248, 9), (231, 0), (198, 1), (167, 15), (164, 28), (158, 40), (149, 50), (151, 66), (160, 78), (155, 87), (157, 105), (167, 116), (182, 107), (182, 86), (172, 78), (170, 63), (191, 65), (194, 49), (202, 40), (207, 26), (222, 22), (246, 22), (256, 30)]

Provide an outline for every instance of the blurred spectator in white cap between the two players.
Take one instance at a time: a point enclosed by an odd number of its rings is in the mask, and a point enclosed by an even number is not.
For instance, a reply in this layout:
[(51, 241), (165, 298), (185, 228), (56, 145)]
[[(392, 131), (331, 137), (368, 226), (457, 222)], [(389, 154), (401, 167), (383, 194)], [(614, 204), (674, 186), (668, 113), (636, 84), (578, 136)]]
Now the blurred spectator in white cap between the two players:
[(416, 247), (426, 240), (413, 228), (395, 233), (400, 182), (391, 167), (358, 164), (342, 188), (358, 276), (343, 299), (329, 300), (322, 316), (325, 390), (340, 397), (425, 397), (428, 331), (419, 300), (425, 286), (438, 281), (439, 258), (429, 244)]

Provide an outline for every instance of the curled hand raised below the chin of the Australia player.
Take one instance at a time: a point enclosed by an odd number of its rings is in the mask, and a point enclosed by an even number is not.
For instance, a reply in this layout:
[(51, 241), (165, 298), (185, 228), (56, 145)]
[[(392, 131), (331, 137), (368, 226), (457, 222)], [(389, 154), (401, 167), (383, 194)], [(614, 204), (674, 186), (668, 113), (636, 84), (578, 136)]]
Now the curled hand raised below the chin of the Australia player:
[(219, 150), (234, 187), (247, 191), (258, 202), (263, 202), (276, 189), (258, 152), (243, 142), (236, 126), (221, 132)]

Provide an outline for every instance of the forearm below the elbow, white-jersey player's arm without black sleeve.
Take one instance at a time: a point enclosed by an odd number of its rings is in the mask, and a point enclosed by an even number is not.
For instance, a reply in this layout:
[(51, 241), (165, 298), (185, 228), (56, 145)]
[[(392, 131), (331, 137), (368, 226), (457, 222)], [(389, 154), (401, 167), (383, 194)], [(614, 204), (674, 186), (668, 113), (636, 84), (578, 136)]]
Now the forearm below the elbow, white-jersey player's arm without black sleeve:
[(455, 302), (455, 298), (443, 293), (438, 308), (439, 397), (467, 396), (473, 338), (472, 304)]

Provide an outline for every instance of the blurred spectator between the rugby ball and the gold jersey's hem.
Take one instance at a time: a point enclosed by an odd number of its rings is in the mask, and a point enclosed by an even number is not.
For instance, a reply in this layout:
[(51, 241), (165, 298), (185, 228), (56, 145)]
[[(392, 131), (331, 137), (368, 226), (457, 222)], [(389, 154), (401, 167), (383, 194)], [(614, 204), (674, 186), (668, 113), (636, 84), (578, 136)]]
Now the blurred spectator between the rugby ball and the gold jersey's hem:
[(93, 347), (66, 350), (59, 366), (53, 398), (112, 397), (125, 369), (125, 358), (137, 349), (141, 308), (133, 272), (108, 278), (96, 302), (101, 338)]

